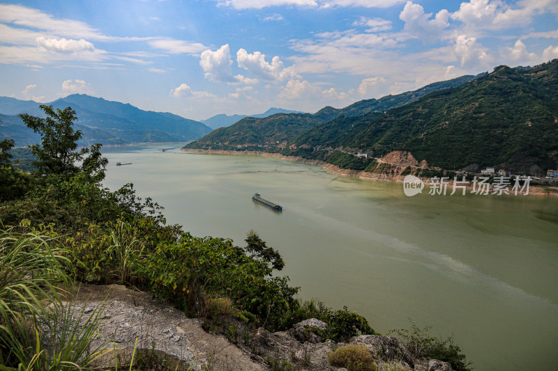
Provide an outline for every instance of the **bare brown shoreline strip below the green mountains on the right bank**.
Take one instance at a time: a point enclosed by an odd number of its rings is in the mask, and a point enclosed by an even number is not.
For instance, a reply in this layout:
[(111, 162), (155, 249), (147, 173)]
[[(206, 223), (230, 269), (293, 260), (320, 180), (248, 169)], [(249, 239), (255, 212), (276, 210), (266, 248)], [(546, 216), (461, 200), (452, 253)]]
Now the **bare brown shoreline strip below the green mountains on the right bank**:
[[(263, 151), (200, 150), (200, 149), (193, 149), (193, 148), (188, 148), (188, 149), (181, 148), (181, 151), (206, 153), (206, 154), (213, 154), (213, 155), (259, 155), (264, 157), (273, 157), (285, 161), (297, 162), (299, 164), (319, 166), (323, 168), (325, 171), (328, 171), (329, 173), (333, 173), (335, 175), (340, 175), (344, 177), (358, 177), (361, 180), (368, 180), (374, 182), (402, 183), (403, 180), (405, 180), (405, 175), (402, 175), (402, 172), (405, 170), (405, 168), (407, 168), (408, 165), (405, 162), (400, 164), (391, 164), (389, 162), (382, 161), (382, 164), (386, 164), (391, 167), (391, 171), (385, 171), (384, 169), (384, 171), (368, 172), (368, 171), (357, 171), (357, 170), (340, 168), (339, 166), (328, 164), (324, 161), (305, 159), (299, 156), (285, 156), (285, 155), (281, 155), (280, 153), (271, 153), (271, 152), (263, 152)], [(425, 184), (428, 184), (430, 178), (421, 177), (421, 180), (425, 182)], [(453, 181), (449, 182), (448, 189), (451, 189), (452, 185), (453, 185)], [(466, 188), (472, 190), (471, 185), (468, 185)], [(527, 196), (558, 197), (558, 188), (540, 187), (540, 186), (531, 185), (529, 187), (529, 194)]]

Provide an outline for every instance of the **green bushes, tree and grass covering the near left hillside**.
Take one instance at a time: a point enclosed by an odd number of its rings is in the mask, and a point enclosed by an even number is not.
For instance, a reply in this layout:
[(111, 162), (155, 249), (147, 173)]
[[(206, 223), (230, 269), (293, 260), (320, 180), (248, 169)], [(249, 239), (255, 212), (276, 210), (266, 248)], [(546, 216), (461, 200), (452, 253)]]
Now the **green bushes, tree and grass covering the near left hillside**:
[[(77, 282), (134, 285), (190, 316), (233, 315), (271, 331), (315, 317), (329, 324), (324, 338), (375, 333), (346, 307), (296, 299), (298, 287), (274, 274), (284, 266), (280, 255), (257, 233), (248, 233), (244, 247), (195, 237), (167, 226), (161, 208), (138, 198), (132, 184), (104, 188), (107, 159), (98, 144), (77, 151), (75, 112), (41, 108), (46, 118), (21, 116), (42, 138), (31, 147), (36, 171), (13, 168), (13, 142), (1, 142), (0, 370), (88, 369), (103, 355), (101, 346), (86, 351), (103, 308), (86, 316), (63, 305)], [(76, 316), (86, 326), (72, 326)]]

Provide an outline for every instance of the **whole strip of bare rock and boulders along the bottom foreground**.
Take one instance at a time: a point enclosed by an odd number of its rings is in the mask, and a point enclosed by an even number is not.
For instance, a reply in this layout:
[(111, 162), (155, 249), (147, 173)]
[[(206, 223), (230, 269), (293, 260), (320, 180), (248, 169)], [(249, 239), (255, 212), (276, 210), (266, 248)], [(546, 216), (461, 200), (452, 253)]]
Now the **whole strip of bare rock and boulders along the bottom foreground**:
[[(291, 365), (292, 370), (340, 371), (345, 368), (330, 365), (328, 355), (347, 344), (368, 349), (378, 370), (452, 370), (449, 363), (414, 358), (398, 339), (388, 336), (355, 336), (347, 343), (324, 340), (316, 335), (319, 331), (315, 329), (323, 331), (327, 325), (318, 319), (306, 319), (292, 329), (276, 333), (247, 326), (234, 317), (213, 318), (209, 326), (207, 322), (204, 326), (203, 319), (188, 318), (148, 292), (130, 290), (123, 285), (80, 288), (75, 306), (76, 313), (84, 308), (81, 321), (100, 305), (105, 308), (99, 333), (110, 340), (105, 345), (110, 352), (94, 365), (99, 370), (114, 370), (115, 356), (126, 364), (136, 347), (169, 363), (180, 362), (183, 368), (179, 370), (188, 367), (211, 371), (275, 370), (275, 363)], [(204, 331), (204, 327), (214, 333)], [(92, 347), (99, 341), (93, 342)]]

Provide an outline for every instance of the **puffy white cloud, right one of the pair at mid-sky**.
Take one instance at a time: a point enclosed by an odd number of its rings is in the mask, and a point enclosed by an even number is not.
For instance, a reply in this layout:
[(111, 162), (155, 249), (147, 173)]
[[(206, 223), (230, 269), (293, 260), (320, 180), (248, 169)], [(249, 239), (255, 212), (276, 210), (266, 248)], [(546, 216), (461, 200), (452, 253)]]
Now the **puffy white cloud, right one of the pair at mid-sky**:
[(295, 77), (290, 68), (285, 68), (278, 56), (271, 59), (271, 63), (266, 62), (265, 54), (253, 52), (248, 54), (245, 49), (236, 52), (236, 62), (239, 67), (251, 72), (259, 79), (267, 81), (282, 81)]

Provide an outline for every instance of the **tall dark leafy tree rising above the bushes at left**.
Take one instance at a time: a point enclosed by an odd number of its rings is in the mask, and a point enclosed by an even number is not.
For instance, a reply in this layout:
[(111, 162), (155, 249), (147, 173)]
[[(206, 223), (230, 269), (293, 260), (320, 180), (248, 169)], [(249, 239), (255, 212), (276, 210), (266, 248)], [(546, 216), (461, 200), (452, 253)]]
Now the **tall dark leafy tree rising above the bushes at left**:
[[(52, 106), (40, 106), (45, 111), (46, 118), (38, 118), (27, 113), (20, 115), (25, 125), (40, 134), (41, 143), (31, 145), (31, 152), (38, 159), (33, 163), (42, 174), (57, 174), (72, 176), (80, 171), (84, 172), (89, 182), (97, 183), (105, 178), (105, 166), (108, 160), (101, 157), (100, 143), (91, 148), (82, 148), (75, 152), (77, 141), (82, 138), (80, 130), (74, 130), (73, 124), (77, 120), (75, 111), (71, 107), (54, 110)], [(84, 159), (84, 155), (89, 154)], [(81, 166), (76, 163), (82, 161)]]

